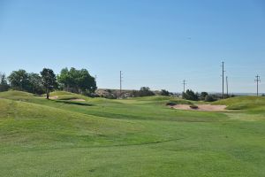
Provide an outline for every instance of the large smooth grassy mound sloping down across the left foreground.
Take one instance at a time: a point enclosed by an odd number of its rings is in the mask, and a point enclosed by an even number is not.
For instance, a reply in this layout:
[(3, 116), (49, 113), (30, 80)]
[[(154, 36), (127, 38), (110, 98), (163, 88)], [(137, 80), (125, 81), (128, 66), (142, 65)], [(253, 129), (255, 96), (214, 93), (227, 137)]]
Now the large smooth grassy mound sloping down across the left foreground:
[(0, 147), (4, 150), (13, 150), (13, 146), (15, 149), (105, 146), (117, 136), (141, 129), (116, 119), (5, 99), (0, 99), (0, 112)]

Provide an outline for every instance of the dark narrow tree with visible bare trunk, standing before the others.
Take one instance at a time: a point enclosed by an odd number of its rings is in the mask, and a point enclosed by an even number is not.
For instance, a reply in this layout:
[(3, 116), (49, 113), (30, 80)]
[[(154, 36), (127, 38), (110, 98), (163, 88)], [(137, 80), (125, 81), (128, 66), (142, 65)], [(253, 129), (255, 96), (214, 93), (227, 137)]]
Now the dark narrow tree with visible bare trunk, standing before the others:
[(49, 99), (49, 92), (57, 88), (57, 78), (51, 69), (43, 68), (42, 72), (42, 85), (45, 88), (46, 98)]

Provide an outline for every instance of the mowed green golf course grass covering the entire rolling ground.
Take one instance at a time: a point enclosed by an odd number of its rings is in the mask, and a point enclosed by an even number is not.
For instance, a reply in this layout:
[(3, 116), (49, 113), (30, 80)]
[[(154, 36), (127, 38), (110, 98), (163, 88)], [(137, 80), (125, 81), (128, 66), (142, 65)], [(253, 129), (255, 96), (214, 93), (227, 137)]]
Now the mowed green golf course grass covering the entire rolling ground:
[(0, 176), (265, 176), (263, 97), (191, 112), (167, 96), (52, 96), (0, 93)]

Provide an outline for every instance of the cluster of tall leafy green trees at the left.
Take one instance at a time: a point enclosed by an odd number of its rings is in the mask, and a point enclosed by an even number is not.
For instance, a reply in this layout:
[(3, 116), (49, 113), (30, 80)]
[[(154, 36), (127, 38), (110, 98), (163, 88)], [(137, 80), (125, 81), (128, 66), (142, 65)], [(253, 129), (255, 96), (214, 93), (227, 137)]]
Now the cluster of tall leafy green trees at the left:
[(9, 76), (0, 73), (0, 91), (9, 89), (46, 94), (48, 99), (49, 92), (54, 89), (89, 96), (95, 93), (96, 82), (87, 69), (64, 68), (57, 75), (49, 68), (43, 68), (40, 73), (27, 73), (26, 70), (19, 69)]

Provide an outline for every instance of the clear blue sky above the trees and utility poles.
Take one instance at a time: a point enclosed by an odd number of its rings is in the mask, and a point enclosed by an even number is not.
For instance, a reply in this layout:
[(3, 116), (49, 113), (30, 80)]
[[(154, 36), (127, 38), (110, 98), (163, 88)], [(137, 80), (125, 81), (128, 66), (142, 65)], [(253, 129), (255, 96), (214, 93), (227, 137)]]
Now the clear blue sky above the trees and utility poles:
[(0, 0), (0, 71), (87, 68), (99, 88), (265, 92), (265, 1)]

